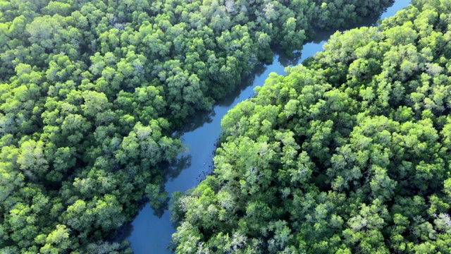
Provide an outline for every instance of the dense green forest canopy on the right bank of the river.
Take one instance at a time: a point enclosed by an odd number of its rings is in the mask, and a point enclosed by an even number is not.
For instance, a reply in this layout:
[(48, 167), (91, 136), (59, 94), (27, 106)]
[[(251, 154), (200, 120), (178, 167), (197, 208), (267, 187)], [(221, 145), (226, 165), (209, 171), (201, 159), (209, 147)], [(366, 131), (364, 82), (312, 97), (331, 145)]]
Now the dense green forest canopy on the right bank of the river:
[(272, 74), (173, 202), (177, 253), (450, 253), (451, 1)]

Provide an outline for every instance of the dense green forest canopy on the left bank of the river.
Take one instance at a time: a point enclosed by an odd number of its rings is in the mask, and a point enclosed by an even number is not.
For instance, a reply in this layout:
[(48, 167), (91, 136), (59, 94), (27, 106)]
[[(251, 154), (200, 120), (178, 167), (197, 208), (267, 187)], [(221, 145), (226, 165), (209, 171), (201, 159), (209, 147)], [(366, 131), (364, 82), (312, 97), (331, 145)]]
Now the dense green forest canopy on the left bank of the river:
[(0, 252), (122, 250), (171, 133), (271, 47), (390, 4), (359, 2), (0, 0)]

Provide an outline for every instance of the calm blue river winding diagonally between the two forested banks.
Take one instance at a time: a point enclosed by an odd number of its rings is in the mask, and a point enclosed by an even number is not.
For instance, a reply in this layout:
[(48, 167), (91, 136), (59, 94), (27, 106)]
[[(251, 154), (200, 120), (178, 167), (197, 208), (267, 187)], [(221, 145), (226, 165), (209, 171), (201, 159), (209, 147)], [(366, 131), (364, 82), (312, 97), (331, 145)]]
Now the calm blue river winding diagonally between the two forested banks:
[[(381, 18), (393, 16), (396, 11), (409, 5), (409, 0), (397, 0), (385, 11)], [(376, 20), (367, 20), (364, 25), (372, 25)], [(320, 32), (313, 42), (304, 45), (301, 52), (295, 52), (294, 57), (279, 54), (274, 56), (273, 63), (258, 66), (256, 71), (242, 83), (239, 90), (218, 102), (211, 112), (196, 116), (190, 125), (185, 127), (181, 139), (190, 152), (180, 157), (178, 167), (173, 167), (168, 175), (166, 191), (187, 191), (197, 186), (204, 174), (213, 168), (213, 152), (215, 143), (221, 133), (221, 119), (227, 111), (239, 102), (252, 97), (254, 87), (263, 85), (269, 73), (284, 74), (286, 66), (293, 66), (304, 61), (323, 49), (323, 44), (333, 32)], [(164, 211), (161, 217), (154, 214), (149, 205), (145, 205), (129, 226), (127, 236), (133, 251), (141, 253), (171, 253), (168, 246), (171, 235), (175, 231), (170, 221), (171, 214)]]

